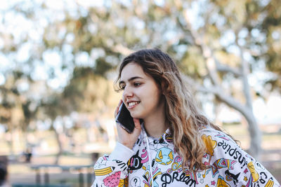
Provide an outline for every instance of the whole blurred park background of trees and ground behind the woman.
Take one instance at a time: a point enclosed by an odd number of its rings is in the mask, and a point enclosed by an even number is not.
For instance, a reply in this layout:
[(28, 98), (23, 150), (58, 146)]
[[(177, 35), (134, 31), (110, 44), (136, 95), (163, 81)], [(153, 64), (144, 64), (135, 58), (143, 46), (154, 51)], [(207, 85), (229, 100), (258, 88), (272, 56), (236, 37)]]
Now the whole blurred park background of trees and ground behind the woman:
[(90, 186), (115, 146), (117, 67), (141, 48), (174, 57), (202, 111), (281, 181), (280, 0), (1, 0), (9, 185)]

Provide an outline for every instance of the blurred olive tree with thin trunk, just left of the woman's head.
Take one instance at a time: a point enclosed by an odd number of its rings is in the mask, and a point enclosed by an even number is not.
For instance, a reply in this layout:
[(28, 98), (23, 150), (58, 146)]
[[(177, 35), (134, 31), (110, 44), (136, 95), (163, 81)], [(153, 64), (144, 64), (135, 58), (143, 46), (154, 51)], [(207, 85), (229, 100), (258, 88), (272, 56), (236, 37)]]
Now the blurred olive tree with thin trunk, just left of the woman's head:
[[(110, 88), (112, 88), (112, 81), (96, 74), (94, 69), (75, 67), (72, 78), (62, 93), (53, 93), (42, 99), (38, 116), (42, 120), (51, 119), (51, 130), (55, 133), (58, 143), (55, 164), (58, 164), (60, 155), (65, 151), (60, 138), (65, 132), (55, 125), (55, 120), (58, 117), (70, 115), (72, 111), (108, 117), (107, 113), (113, 113), (112, 109), (118, 101), (117, 95)], [(63, 127), (63, 122), (59, 123)], [(77, 130), (79, 127), (74, 125), (72, 129)]]

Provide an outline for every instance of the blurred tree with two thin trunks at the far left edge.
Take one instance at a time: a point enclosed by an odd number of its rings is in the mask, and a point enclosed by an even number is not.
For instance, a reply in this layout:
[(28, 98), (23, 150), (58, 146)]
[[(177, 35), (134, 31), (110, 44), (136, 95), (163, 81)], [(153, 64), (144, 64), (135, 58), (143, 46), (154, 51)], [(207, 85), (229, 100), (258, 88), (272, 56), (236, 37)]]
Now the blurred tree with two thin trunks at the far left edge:
[(0, 123), (6, 126), (8, 136), (7, 142), (13, 155), (14, 131), (21, 130), (24, 138), (24, 148), (31, 146), (28, 141), (28, 133), (33, 132), (36, 127), (30, 123), (37, 120), (39, 101), (35, 97), (34, 87), (38, 92), (38, 84), (21, 71), (14, 70), (6, 72), (6, 81), (0, 86)]

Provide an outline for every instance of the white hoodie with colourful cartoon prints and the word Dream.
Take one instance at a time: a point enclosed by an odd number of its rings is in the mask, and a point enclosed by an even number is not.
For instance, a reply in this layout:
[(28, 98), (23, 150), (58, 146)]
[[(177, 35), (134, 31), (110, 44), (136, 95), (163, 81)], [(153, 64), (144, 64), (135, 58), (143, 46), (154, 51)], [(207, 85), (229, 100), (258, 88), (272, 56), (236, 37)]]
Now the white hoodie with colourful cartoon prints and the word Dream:
[[(171, 141), (169, 134), (165, 136)], [(183, 170), (183, 159), (172, 144), (162, 139), (157, 142), (150, 139), (150, 147), (146, 147), (145, 140), (140, 138), (134, 146), (135, 154), (126, 164), (119, 160), (107, 160), (107, 156), (100, 158), (94, 167), (96, 181), (93, 185), (280, 187), (259, 162), (242, 151), (226, 134), (207, 128), (202, 130), (202, 140), (207, 147), (202, 162), (209, 166), (203, 171)], [(150, 159), (148, 150), (152, 156)]]

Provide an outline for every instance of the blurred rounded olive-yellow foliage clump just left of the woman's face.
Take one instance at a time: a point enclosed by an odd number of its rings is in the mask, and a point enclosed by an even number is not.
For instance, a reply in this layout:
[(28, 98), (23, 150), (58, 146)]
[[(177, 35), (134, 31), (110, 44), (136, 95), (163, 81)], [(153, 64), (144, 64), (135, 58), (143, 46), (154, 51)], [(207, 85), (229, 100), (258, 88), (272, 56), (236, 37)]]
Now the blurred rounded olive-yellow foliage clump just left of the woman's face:
[(108, 104), (110, 87), (110, 82), (96, 74), (96, 69), (76, 67), (62, 99), (74, 111), (98, 113)]

